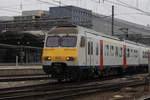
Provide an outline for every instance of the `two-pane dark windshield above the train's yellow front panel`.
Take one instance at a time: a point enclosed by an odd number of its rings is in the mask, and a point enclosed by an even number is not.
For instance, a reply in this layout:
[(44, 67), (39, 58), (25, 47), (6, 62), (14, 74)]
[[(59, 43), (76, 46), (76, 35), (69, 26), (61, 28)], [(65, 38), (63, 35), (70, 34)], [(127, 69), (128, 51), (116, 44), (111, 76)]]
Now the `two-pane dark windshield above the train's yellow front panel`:
[(76, 36), (49, 36), (46, 41), (47, 47), (75, 47)]

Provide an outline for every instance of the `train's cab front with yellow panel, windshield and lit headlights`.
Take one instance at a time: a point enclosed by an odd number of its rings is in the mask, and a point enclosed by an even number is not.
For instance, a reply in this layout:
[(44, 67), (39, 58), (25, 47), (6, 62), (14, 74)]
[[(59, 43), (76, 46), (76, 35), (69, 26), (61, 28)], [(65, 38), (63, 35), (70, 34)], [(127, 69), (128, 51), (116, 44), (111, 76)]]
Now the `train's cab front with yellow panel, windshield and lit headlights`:
[(77, 78), (78, 48), (76, 28), (55, 28), (45, 38), (42, 62), (43, 70), (52, 78)]

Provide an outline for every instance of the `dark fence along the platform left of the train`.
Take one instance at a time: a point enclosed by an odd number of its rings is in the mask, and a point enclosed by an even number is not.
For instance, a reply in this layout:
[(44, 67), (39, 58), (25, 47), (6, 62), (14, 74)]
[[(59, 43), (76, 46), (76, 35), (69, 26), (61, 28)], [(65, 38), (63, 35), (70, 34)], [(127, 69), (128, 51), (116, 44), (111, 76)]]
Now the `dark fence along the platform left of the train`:
[(0, 44), (0, 65), (41, 64), (42, 48)]

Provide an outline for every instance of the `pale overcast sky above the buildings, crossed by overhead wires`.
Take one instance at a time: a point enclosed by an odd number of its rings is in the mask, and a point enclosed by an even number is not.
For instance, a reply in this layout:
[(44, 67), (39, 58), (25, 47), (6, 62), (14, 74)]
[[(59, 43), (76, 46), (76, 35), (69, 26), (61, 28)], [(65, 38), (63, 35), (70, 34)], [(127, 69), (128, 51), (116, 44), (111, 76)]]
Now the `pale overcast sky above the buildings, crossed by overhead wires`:
[[(42, 3), (40, 1), (46, 1), (49, 3)], [(150, 24), (150, 0), (61, 1), (62, 5), (76, 5), (105, 15), (111, 15), (111, 6), (114, 5), (116, 18), (124, 19), (142, 25)], [(49, 7), (53, 7), (56, 5), (58, 5), (58, 3), (54, 2), (53, 0), (0, 0), (0, 16), (21, 15), (22, 10), (49, 10)]]

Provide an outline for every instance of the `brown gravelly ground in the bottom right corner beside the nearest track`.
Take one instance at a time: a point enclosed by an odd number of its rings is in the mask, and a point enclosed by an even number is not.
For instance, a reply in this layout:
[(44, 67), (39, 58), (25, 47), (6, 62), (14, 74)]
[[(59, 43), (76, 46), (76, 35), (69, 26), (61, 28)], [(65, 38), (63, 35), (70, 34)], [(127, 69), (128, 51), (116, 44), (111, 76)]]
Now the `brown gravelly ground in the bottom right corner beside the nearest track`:
[(118, 91), (78, 96), (68, 100), (144, 100), (147, 97), (150, 98), (150, 91), (144, 91), (144, 86), (141, 86), (137, 88), (127, 87)]

